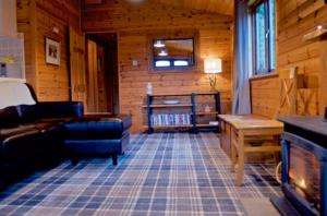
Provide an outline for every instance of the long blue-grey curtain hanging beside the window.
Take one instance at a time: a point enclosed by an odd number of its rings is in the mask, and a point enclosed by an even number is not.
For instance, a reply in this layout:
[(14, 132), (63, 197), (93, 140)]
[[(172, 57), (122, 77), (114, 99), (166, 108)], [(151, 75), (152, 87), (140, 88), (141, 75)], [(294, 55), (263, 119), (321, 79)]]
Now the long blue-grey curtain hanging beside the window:
[(251, 47), (247, 3), (235, 0), (234, 10), (234, 97), (232, 112), (234, 115), (251, 113), (250, 75)]

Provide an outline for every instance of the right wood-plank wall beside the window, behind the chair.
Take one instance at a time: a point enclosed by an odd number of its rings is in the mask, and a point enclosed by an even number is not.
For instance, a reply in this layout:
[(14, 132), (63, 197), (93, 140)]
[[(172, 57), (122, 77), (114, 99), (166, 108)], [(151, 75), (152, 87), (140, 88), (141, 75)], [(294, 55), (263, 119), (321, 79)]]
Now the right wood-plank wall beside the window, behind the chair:
[[(313, 0), (277, 0), (277, 70), (298, 67), (299, 73), (319, 77), (322, 75), (322, 44), (319, 39), (303, 40), (303, 36), (316, 25), (327, 22), (327, 5), (314, 10)], [(316, 1), (316, 2), (322, 2)], [(324, 2), (324, 1), (323, 1)], [(326, 59), (326, 58), (325, 58)], [(327, 73), (325, 71), (325, 73)], [(322, 77), (320, 77), (322, 79)], [(280, 81), (277, 75), (254, 79), (252, 84), (252, 112), (272, 118), (279, 105)], [(322, 88), (323, 86), (320, 86)], [(325, 87), (326, 89), (326, 87)], [(312, 89), (304, 91), (310, 115), (319, 112), (322, 96), (315, 96)], [(298, 95), (298, 113), (303, 113), (304, 104)], [(327, 101), (325, 101), (327, 105)], [(320, 110), (322, 112), (322, 110)]]

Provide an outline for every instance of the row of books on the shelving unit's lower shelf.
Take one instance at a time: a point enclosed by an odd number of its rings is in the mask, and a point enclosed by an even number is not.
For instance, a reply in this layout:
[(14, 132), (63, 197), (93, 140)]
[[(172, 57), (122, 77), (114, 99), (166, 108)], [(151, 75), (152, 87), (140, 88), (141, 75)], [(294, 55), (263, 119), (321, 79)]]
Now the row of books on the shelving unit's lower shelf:
[(190, 113), (158, 113), (152, 115), (152, 125), (185, 125), (191, 124)]

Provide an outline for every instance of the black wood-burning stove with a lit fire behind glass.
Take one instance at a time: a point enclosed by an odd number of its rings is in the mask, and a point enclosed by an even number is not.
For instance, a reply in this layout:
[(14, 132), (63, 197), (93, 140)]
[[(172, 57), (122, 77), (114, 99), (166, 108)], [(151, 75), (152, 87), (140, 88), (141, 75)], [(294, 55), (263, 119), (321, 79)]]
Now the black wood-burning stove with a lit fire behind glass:
[(271, 201), (283, 215), (294, 208), (301, 215), (327, 215), (327, 122), (320, 117), (290, 117), (280, 121), (284, 123), (284, 197)]

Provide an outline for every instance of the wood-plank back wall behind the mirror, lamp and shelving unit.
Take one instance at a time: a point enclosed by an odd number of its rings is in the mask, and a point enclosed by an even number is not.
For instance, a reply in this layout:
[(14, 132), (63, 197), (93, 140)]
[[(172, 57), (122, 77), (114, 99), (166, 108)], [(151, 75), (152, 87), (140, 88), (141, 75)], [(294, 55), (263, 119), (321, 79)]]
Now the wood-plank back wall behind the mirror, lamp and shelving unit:
[[(182, 34), (196, 29), (199, 35), (199, 58), (220, 57), (223, 73), (217, 85), (222, 92), (225, 111), (230, 110), (231, 98), (231, 31), (232, 16), (196, 12), (146, 1), (131, 7), (125, 1), (102, 0), (100, 4), (82, 7), (83, 28), (87, 33), (118, 33), (120, 112), (133, 117), (132, 131), (142, 131), (145, 124), (146, 83), (154, 93), (191, 93), (209, 91), (208, 79), (203, 73), (203, 61), (190, 72), (150, 72), (148, 35), (162, 32)], [(137, 67), (132, 65), (136, 60)]]

